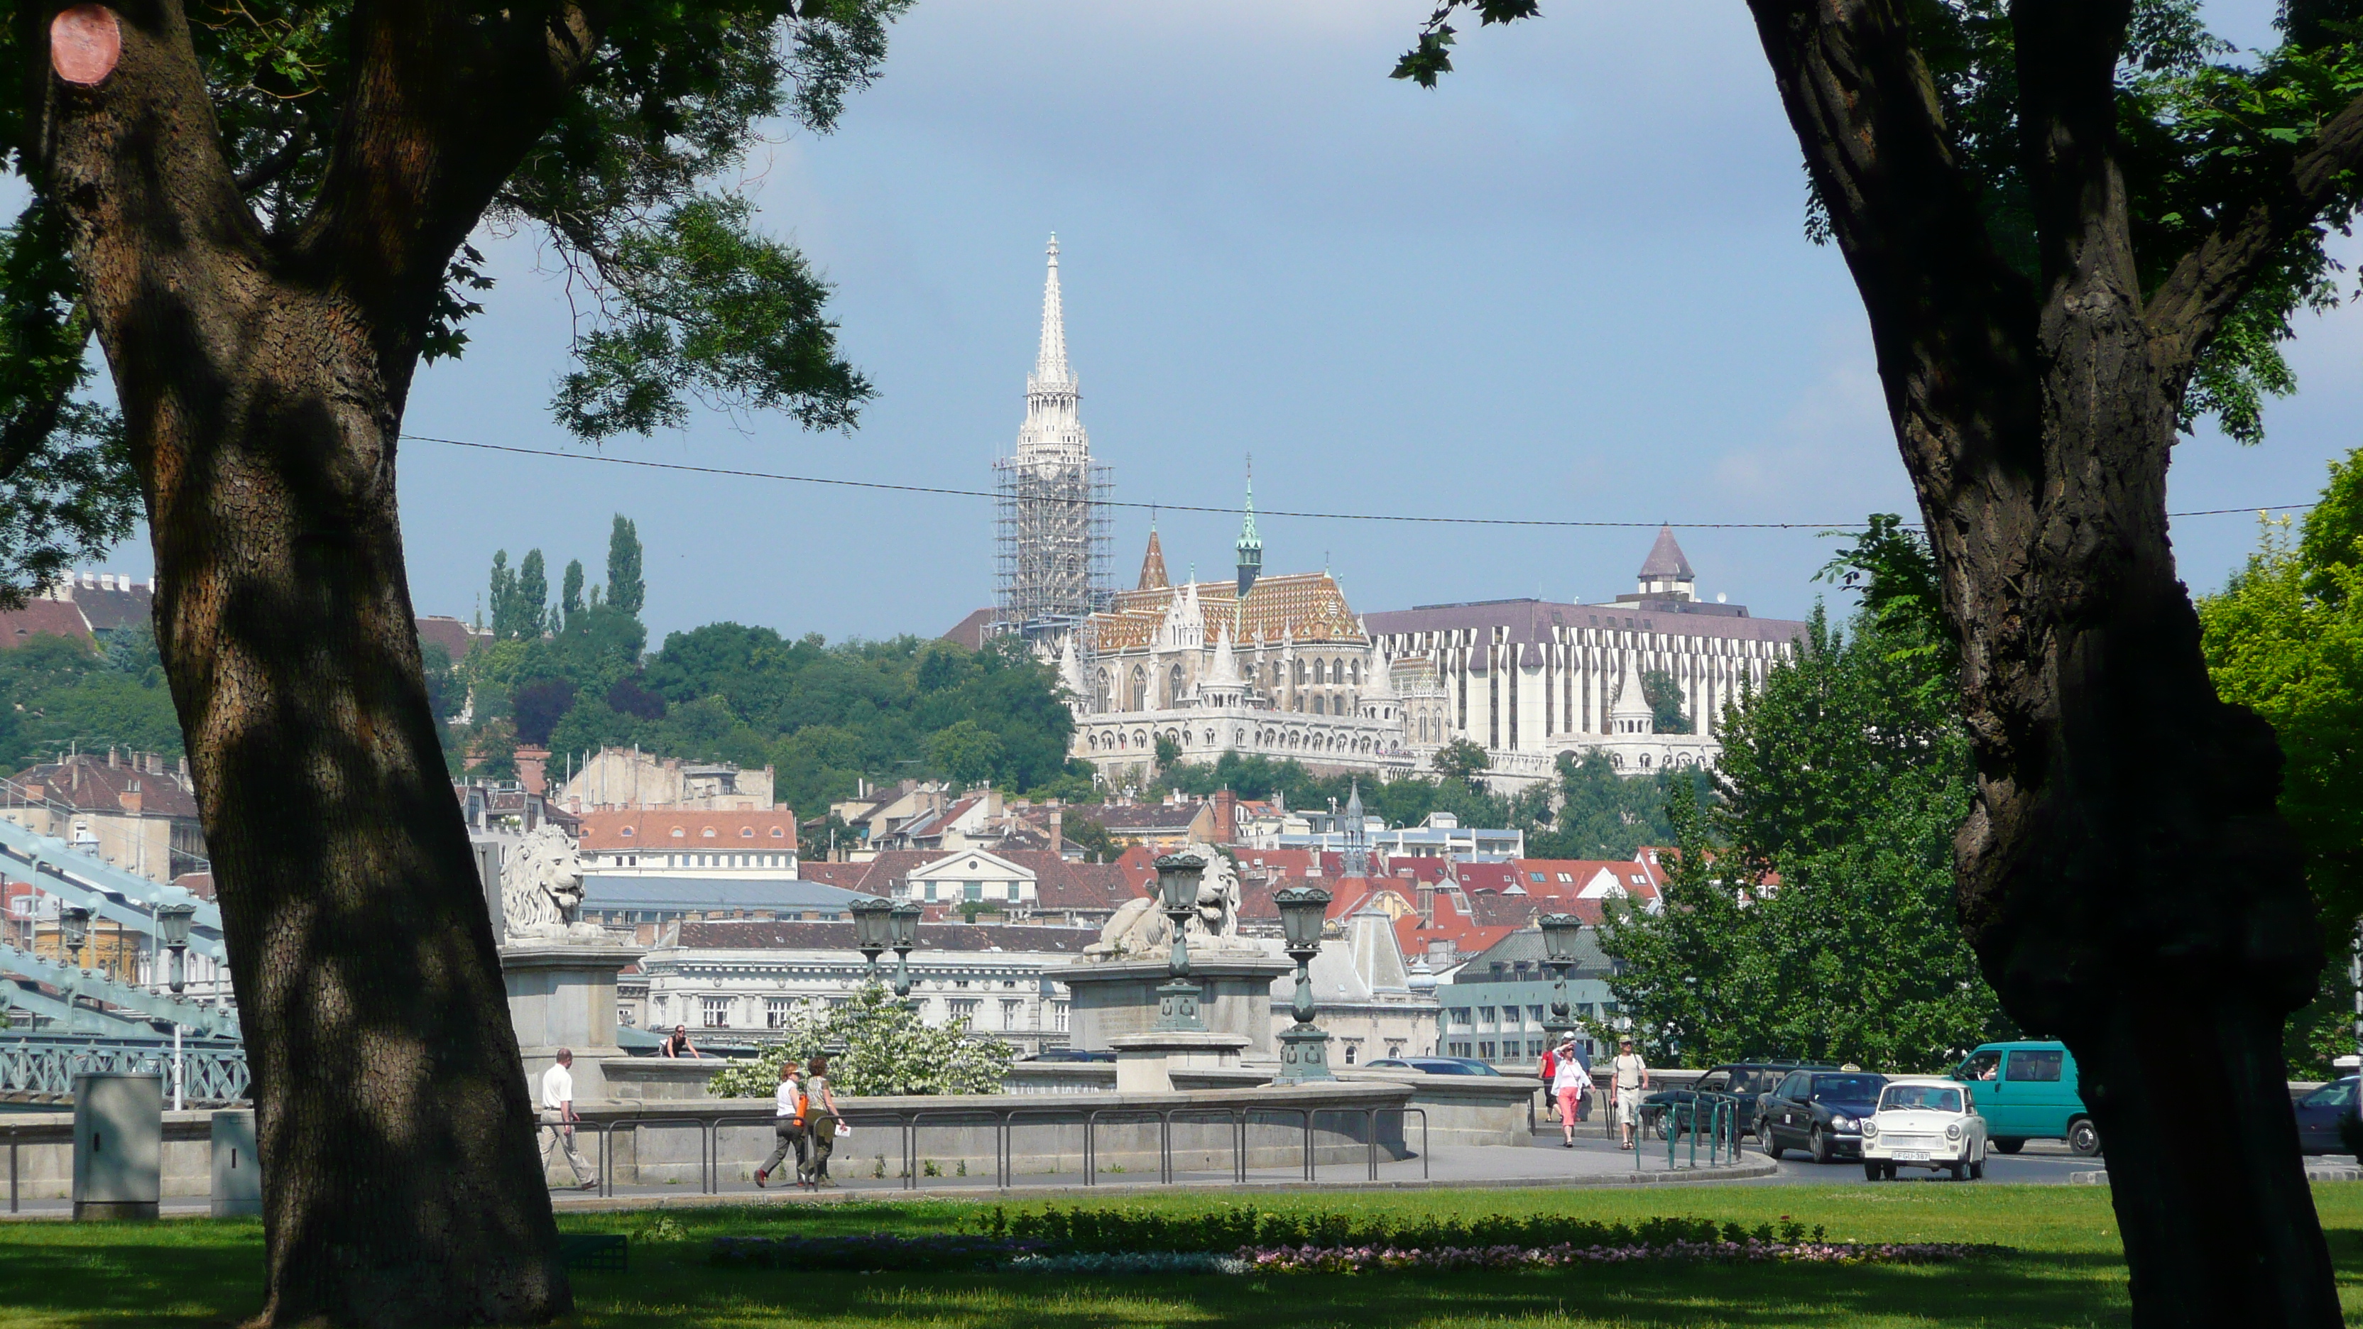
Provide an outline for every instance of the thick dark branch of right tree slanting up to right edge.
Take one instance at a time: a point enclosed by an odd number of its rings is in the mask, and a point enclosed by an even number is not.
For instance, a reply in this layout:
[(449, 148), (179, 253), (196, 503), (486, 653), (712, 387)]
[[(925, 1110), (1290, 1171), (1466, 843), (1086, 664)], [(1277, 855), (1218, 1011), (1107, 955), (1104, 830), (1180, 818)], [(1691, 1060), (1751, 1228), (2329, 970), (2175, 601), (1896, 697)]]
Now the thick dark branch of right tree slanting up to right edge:
[(2216, 222), (2150, 296), (2146, 322), (2150, 357), (2169, 383), (2183, 383), (2233, 305), (2363, 168), (2363, 97), (2330, 118), (2292, 158), (2273, 187), (2247, 208)]

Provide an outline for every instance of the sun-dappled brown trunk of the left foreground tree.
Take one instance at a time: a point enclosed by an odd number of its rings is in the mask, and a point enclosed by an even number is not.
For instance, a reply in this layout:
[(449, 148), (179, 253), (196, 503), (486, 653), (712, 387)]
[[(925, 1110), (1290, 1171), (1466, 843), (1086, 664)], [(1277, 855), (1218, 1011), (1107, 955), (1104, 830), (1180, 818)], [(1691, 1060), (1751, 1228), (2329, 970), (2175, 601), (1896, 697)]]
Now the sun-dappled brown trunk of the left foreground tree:
[(265, 236), (180, 5), (121, 17), (106, 80), (45, 78), (40, 184), (147, 497), (253, 1067), (260, 1324), (541, 1322), (572, 1303), (395, 511), (421, 281), (475, 213), (380, 177), (319, 244)]

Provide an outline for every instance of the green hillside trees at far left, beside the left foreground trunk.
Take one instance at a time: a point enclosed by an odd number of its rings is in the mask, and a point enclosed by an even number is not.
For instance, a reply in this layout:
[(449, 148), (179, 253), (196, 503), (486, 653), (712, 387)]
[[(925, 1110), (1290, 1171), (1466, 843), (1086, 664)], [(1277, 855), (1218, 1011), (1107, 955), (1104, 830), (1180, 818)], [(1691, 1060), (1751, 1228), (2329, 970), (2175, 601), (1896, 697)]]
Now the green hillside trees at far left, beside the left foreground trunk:
[(33, 634), (0, 650), (0, 766), (24, 771), (66, 750), (180, 754), (180, 717), (147, 624), (104, 648)]

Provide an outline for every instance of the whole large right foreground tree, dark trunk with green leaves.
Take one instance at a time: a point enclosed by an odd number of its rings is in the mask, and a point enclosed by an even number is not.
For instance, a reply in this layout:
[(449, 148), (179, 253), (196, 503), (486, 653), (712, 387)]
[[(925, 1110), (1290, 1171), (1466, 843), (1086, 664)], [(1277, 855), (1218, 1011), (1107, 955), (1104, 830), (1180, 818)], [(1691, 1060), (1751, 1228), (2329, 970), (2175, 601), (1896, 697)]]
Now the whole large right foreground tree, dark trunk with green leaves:
[[(1399, 73), (1432, 83), (1446, 0)], [(2176, 430), (2254, 435), (2354, 210), (2354, 0), (2233, 64), (2191, 0), (1749, 0), (1869, 312), (1961, 648), (1957, 908), (2068, 1040), (2134, 1320), (2337, 1324), (2280, 1031), (2323, 965), (2280, 750), (2216, 698), (2167, 542)], [(2191, 1135), (2193, 1093), (2219, 1126)]]

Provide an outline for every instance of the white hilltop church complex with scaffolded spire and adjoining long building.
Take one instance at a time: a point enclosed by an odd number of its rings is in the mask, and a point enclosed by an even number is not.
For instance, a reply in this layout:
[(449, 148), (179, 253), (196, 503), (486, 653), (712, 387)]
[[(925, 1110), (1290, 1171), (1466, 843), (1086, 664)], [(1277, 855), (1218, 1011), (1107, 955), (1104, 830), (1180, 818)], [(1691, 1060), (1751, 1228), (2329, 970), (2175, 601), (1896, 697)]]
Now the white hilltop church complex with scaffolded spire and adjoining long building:
[[(1465, 738), (1486, 750), (1496, 787), (1548, 780), (1560, 752), (1600, 750), (1628, 776), (1711, 766), (1723, 707), (1803, 648), (1801, 622), (1701, 601), (1673, 530), (1659, 530), (1638, 589), (1609, 603), (1363, 615), (1328, 570), (1264, 572), (1252, 478), (1233, 577), (1174, 584), (1151, 525), (1139, 577), (1111, 591), (1108, 468), (1082, 430), (1061, 300), (1054, 236), (1026, 423), (995, 466), (1000, 596), (976, 620), (1026, 634), (1056, 665), (1073, 754), (1115, 785), (1148, 780), (1160, 738), (1186, 761), (1238, 752), (1371, 776), (1427, 771)], [(1690, 733), (1656, 731), (1645, 674), (1671, 683)]]

